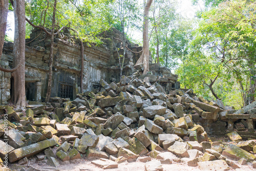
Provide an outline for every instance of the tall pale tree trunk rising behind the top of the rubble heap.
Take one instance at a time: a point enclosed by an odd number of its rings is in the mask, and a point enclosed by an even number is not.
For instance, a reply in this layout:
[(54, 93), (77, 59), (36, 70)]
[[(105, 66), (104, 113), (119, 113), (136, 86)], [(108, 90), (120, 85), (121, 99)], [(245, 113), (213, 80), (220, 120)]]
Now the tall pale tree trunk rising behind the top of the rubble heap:
[(149, 61), (150, 61), (150, 42), (148, 40), (148, 13), (150, 12), (150, 6), (153, 0), (148, 0), (144, 8), (144, 19), (143, 19), (143, 52), (136, 62), (136, 65), (143, 63), (144, 71), (146, 74), (150, 71)]

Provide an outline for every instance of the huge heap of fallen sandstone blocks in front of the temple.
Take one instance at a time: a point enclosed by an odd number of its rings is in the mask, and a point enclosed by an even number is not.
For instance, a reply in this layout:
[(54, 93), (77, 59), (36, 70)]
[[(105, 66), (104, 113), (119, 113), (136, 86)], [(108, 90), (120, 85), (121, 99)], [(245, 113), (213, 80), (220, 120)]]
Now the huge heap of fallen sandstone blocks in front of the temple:
[(97, 159), (92, 163), (101, 168), (116, 168), (126, 160), (146, 162), (145, 170), (161, 170), (162, 164), (173, 162), (217, 170), (239, 168), (246, 162), (256, 167), (255, 140), (242, 141), (233, 132), (227, 136), (235, 144), (240, 141), (237, 145), (215, 142), (186, 114), (195, 110), (202, 118), (217, 120), (224, 112), (220, 104), (203, 102), (193, 90), (166, 94), (159, 84), (135, 76), (100, 83), (102, 89), (96, 94), (77, 94), (73, 101), (53, 97), (45, 105), (28, 105), (26, 112), (0, 106), (9, 125), (4, 134), (0, 120), (0, 136), (9, 144), (7, 151), (0, 150), (0, 163), (5, 155), (18, 164), (36, 156), (58, 167), (59, 161), (85, 156)]

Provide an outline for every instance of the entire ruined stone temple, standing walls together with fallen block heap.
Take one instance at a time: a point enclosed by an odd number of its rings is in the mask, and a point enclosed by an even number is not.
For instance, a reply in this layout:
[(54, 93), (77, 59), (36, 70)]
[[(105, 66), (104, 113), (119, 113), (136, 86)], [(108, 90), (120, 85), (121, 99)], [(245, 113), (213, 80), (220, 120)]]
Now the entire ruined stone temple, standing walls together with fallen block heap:
[[(34, 30), (31, 39), (39, 32)], [(117, 30), (113, 34), (121, 35)], [(27, 40), (26, 114), (4, 105), (12, 98), (12, 79), (0, 72), (0, 114), (8, 115), (9, 126), (8, 150), (0, 150), (3, 161), (8, 154), (11, 163), (27, 164), (34, 156), (38, 164), (61, 169), (63, 161), (81, 158), (103, 169), (126, 160), (146, 162), (145, 170), (163, 170), (172, 163), (201, 170), (256, 168), (256, 102), (234, 110), (221, 100), (207, 101), (191, 89), (180, 89), (178, 75), (152, 63), (151, 74), (141, 75), (142, 69), (133, 67), (140, 54), (130, 51), (119, 78), (113, 43), (120, 47), (120, 42), (110, 40), (84, 47), (85, 91), (79, 92), (80, 48), (66, 44), (68, 33), (66, 40), (55, 38), (52, 97), (50, 103), (41, 102), (50, 43), (42, 39)], [(12, 44), (6, 42), (2, 65), (11, 67), (11, 55)], [(0, 137), (4, 133), (0, 119)], [(220, 137), (225, 138), (216, 141)]]

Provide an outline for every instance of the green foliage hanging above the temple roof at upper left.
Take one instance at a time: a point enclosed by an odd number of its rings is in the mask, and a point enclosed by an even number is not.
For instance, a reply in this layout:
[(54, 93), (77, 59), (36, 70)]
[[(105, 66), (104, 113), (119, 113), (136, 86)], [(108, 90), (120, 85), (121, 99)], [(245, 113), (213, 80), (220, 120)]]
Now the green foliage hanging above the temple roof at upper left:
[[(110, 2), (108, 0), (91, 0), (80, 3), (73, 0), (58, 0), (56, 29), (63, 26), (70, 27), (79, 32), (79, 35), (76, 32), (72, 34), (79, 36), (83, 41), (101, 44), (100, 33), (110, 28), (103, 13), (103, 9)], [(26, 16), (34, 25), (51, 29), (53, 4), (53, 0), (28, 0), (26, 2)], [(29, 37), (32, 27), (26, 27), (26, 29), (27, 37)]]

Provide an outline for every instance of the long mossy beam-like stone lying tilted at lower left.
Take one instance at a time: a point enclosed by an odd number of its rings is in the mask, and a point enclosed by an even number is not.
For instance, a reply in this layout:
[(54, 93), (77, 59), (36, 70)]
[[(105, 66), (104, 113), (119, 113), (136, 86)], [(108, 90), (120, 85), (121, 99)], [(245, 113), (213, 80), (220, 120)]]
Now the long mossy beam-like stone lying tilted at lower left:
[(14, 149), (14, 151), (8, 154), (8, 158), (9, 158), (9, 161), (12, 163), (24, 157), (33, 156), (37, 153), (40, 153), (44, 149), (53, 147), (55, 145), (57, 145), (57, 143), (54, 139), (40, 141), (25, 147)]

